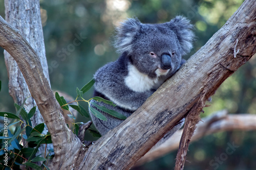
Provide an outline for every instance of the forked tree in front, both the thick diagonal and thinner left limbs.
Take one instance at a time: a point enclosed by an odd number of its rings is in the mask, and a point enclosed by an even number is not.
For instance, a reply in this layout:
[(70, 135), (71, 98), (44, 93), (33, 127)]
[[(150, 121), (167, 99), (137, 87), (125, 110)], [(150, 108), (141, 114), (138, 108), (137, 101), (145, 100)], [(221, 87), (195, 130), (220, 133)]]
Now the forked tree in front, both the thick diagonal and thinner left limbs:
[(221, 83), (256, 53), (255, 16), (256, 3), (245, 1), (172, 78), (88, 152), (66, 127), (35, 52), (1, 17), (0, 46), (17, 62), (51, 133), (50, 169), (129, 169), (191, 110), (201, 111)]

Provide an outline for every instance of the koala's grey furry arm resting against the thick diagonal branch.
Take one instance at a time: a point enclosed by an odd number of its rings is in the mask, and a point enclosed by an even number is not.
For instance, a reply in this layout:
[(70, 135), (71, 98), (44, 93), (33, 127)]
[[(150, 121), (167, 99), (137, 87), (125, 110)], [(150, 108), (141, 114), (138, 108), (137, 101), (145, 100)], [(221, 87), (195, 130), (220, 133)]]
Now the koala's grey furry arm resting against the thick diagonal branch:
[(123, 72), (113, 69), (114, 63), (109, 63), (100, 68), (94, 75), (95, 90), (102, 93), (117, 106), (137, 110), (155, 90), (136, 92), (124, 83)]

